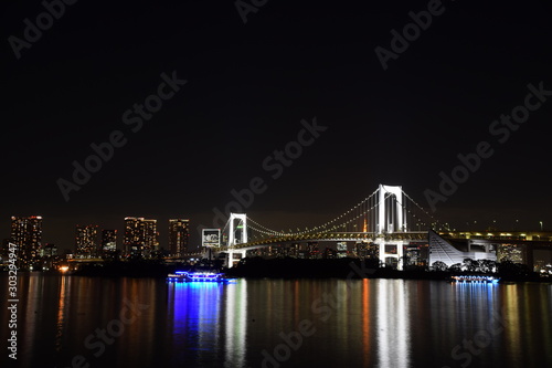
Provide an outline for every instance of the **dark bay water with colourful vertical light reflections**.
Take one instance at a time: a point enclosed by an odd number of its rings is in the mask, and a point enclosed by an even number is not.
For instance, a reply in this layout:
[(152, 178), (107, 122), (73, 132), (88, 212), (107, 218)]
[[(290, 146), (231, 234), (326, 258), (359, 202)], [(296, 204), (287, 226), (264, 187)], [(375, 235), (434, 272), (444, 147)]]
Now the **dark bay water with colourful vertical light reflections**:
[(19, 295), (19, 367), (552, 366), (550, 284), (21, 274)]

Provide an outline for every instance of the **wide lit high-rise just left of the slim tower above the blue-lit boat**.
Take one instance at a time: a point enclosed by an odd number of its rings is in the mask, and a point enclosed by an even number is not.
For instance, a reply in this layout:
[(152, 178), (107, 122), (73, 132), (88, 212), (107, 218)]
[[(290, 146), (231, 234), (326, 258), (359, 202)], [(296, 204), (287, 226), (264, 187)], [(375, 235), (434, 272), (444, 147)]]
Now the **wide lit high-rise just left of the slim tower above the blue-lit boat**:
[(157, 220), (125, 218), (125, 251), (127, 254), (150, 255), (159, 248)]

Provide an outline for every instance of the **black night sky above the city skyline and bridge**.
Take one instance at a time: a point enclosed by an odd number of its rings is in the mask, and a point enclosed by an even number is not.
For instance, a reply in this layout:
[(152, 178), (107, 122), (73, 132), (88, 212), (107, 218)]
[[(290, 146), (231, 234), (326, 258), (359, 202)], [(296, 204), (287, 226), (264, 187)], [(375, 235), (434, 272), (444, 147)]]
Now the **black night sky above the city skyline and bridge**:
[[(552, 91), (546, 1), (444, 1), (386, 70), (375, 48), (391, 50), (391, 31), (428, 1), (272, 0), (244, 23), (230, 0), (81, 0), (19, 60), (10, 36), (24, 40), (24, 19), (36, 24), (45, 8), (1, 7), (1, 238), (11, 215), (41, 214), (43, 240), (72, 248), (76, 223), (123, 230), (137, 215), (160, 221), (164, 245), (169, 218), (210, 227), (212, 209), (254, 177), (267, 188), (245, 211), (276, 229), (329, 220), (379, 183), (402, 185), (429, 208), (424, 191), (438, 192), (439, 172), (480, 141), (493, 155), (435, 217), (457, 228), (552, 227), (552, 96), (506, 141), (489, 133), (523, 106), (528, 84)], [(173, 71), (188, 83), (134, 133), (123, 115)], [(327, 130), (270, 178), (263, 161), (314, 117)], [(126, 145), (65, 201), (56, 181), (72, 180), (72, 162), (115, 130)]]

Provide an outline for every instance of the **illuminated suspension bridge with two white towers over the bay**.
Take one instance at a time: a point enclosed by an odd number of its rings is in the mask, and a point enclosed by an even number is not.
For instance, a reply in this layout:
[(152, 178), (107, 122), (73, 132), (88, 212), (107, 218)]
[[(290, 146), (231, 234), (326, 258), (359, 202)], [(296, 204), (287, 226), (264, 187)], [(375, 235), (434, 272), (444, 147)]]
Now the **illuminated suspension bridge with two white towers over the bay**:
[(226, 264), (232, 266), (245, 257), (247, 251), (264, 246), (298, 242), (362, 241), (379, 245), (381, 261), (399, 261), (404, 255), (403, 245), (427, 240), (428, 229), (435, 228), (437, 223), (401, 186), (380, 185), (370, 196), (332, 220), (295, 232), (270, 229), (246, 213), (230, 213), (222, 229), (224, 243), (217, 251), (227, 253)]

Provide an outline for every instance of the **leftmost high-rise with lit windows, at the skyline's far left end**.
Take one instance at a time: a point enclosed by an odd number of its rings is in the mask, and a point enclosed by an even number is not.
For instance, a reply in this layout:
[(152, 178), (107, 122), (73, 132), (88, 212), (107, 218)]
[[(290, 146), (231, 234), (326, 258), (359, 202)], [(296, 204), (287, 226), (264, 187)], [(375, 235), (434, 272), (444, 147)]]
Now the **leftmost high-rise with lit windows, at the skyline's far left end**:
[(32, 267), (39, 261), (42, 242), (42, 217), (12, 217), (11, 242), (18, 245), (21, 267)]

